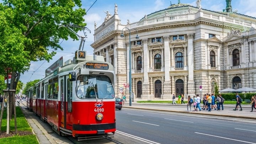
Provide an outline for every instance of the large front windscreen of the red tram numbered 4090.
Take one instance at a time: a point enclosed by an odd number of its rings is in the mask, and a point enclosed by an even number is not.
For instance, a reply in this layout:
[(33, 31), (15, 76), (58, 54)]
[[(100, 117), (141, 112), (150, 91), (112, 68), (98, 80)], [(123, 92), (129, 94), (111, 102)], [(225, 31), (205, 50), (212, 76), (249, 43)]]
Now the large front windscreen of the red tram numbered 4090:
[(112, 99), (114, 89), (107, 76), (80, 75), (76, 81), (76, 96), (81, 99)]

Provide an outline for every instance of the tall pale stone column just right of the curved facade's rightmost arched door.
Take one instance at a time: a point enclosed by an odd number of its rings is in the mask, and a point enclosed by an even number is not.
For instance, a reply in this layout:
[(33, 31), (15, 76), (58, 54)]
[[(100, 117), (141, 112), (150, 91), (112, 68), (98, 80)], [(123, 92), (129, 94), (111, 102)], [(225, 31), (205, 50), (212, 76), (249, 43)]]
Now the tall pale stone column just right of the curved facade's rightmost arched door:
[(193, 35), (194, 34), (187, 34), (188, 36), (188, 95), (195, 94)]

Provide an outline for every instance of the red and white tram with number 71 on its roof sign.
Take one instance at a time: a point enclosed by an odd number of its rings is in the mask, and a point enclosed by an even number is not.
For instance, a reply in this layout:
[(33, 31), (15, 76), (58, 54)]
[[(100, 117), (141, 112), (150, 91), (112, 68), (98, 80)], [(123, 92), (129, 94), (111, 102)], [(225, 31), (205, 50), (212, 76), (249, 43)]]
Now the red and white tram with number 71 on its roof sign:
[(46, 70), (27, 91), (27, 107), (62, 135), (96, 138), (116, 131), (114, 68), (102, 56), (77, 50)]

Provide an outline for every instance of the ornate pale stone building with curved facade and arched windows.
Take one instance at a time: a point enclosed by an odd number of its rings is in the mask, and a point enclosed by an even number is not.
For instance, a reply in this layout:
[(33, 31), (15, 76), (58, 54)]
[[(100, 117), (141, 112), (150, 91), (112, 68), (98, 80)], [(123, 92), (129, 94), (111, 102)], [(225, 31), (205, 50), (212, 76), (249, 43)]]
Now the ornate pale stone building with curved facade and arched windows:
[(256, 18), (231, 12), (231, 5), (225, 12), (197, 5), (171, 5), (126, 24), (115, 12), (95, 28), (91, 46), (114, 65), (116, 96), (120, 87), (129, 94), (129, 44), (135, 98), (186, 98), (200, 94), (199, 86), (201, 94), (214, 92), (214, 85), (256, 88)]

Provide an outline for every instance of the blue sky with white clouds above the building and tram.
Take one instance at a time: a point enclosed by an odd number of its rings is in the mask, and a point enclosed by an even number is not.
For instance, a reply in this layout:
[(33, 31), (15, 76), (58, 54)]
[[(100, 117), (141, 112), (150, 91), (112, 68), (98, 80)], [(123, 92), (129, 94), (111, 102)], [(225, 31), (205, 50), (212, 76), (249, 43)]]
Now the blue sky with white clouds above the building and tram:
[[(137, 22), (144, 15), (149, 15), (155, 11), (164, 10), (170, 4), (177, 4), (178, 0), (81, 0), (82, 8), (87, 11), (84, 16), (85, 22), (87, 23), (87, 28), (91, 30), (91, 33), (86, 31), (87, 38), (85, 40), (84, 50), (86, 50), (88, 55), (93, 55), (93, 48), (90, 46), (94, 42), (94, 22), (97, 23), (97, 27), (100, 26), (106, 14), (104, 11), (109, 11), (113, 16), (114, 14), (114, 4), (118, 6), (118, 16), (121, 20), (121, 24), (126, 25), (127, 20), (130, 23)], [(95, 2), (96, 1), (96, 2)], [(94, 3), (95, 2), (95, 3)], [(180, 0), (182, 4), (190, 4), (196, 6), (196, 0)], [(202, 9), (212, 10), (212, 11), (222, 11), (226, 7), (225, 0), (202, 0)], [(233, 11), (238, 10), (237, 13), (256, 17), (256, 0), (232, 0), (231, 6)], [(91, 8), (90, 8), (91, 7)], [(90, 8), (90, 9), (89, 9)], [(82, 35), (82, 33), (79, 33)], [(45, 70), (56, 62), (60, 57), (63, 56), (63, 62), (68, 59), (73, 59), (74, 52), (79, 49), (80, 40), (73, 41), (69, 39), (68, 41), (60, 41), (60, 46), (63, 47), (62, 50), (57, 50), (57, 54), (50, 60), (31, 62), (30, 69), (24, 74), (21, 74), (20, 80), (26, 84), (29, 81), (36, 79), (43, 79), (45, 77)], [(51, 49), (49, 49), (51, 50)]]

